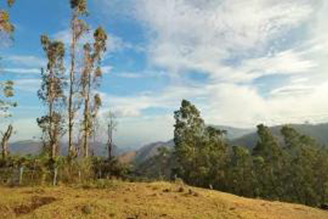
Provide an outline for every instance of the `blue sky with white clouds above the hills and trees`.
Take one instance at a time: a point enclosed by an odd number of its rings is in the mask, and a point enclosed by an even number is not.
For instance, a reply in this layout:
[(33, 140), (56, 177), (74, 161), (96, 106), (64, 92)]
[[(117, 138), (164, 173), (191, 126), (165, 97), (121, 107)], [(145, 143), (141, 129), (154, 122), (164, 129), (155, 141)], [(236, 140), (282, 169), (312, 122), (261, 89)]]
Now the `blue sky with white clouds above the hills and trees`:
[[(3, 7), (3, 2), (0, 6)], [(208, 124), (328, 121), (328, 2), (324, 0), (93, 0), (91, 29), (109, 33), (101, 114), (117, 115), (115, 142), (173, 137), (183, 98)], [(0, 79), (15, 82), (13, 141), (40, 136), (36, 92), (46, 66), (40, 34), (69, 48), (69, 1), (18, 0), (14, 42), (1, 43)], [(84, 41), (91, 38), (87, 35)], [(67, 52), (68, 53), (68, 52)], [(69, 69), (70, 57), (66, 64)]]

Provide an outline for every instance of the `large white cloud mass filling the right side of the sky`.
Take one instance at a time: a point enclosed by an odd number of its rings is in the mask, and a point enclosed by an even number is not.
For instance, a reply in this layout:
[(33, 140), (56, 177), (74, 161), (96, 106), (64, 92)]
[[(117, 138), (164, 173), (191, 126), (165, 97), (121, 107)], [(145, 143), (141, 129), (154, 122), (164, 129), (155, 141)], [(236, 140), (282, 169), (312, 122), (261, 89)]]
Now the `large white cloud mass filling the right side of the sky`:
[[(307, 0), (140, 0), (137, 18), (150, 33), (151, 64), (175, 76), (190, 70), (209, 76), (202, 94), (207, 103), (200, 105), (209, 120), (250, 126), (289, 122), (291, 116), (303, 122), (303, 115), (328, 108), (327, 102), (316, 100), (328, 81), (322, 61), (328, 51), (327, 5)], [(281, 75), (283, 83), (273, 86), (272, 75)], [(262, 80), (267, 93), (255, 79)]]

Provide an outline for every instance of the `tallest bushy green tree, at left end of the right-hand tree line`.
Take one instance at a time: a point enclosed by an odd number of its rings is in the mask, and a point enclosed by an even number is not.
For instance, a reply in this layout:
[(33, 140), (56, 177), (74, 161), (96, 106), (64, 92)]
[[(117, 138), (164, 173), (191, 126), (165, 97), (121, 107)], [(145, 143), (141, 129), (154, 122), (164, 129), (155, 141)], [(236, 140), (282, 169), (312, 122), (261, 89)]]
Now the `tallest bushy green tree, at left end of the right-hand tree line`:
[[(174, 143), (178, 176), (189, 184), (208, 186), (224, 177), (227, 144), (223, 131), (206, 127), (200, 112), (183, 100), (174, 112)], [(217, 176), (217, 177), (210, 177)]]

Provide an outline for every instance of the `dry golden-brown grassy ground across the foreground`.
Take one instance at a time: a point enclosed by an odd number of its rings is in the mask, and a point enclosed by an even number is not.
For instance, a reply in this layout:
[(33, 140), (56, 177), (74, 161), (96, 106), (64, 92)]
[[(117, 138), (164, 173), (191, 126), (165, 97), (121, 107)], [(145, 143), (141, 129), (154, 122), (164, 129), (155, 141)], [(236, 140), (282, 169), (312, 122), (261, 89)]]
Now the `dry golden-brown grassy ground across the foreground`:
[(0, 187), (0, 218), (328, 218), (328, 212), (302, 205), (178, 184), (116, 182), (107, 187)]

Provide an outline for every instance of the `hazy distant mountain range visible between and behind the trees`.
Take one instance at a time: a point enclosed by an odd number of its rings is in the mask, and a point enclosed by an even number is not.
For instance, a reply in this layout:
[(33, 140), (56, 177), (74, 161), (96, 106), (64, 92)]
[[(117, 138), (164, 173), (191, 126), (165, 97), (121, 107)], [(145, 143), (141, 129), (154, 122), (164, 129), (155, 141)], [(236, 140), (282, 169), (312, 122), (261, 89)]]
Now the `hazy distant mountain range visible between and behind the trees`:
[[(258, 136), (256, 133), (256, 129), (241, 129), (234, 128), (229, 126), (215, 126), (211, 125), (218, 129), (227, 130), (227, 138), (228, 141), (232, 145), (240, 145), (246, 146), (248, 148), (253, 148), (258, 141)], [(317, 140), (320, 144), (328, 146), (328, 123), (322, 124), (292, 124), (297, 131), (302, 134), (310, 135), (315, 140)], [(274, 126), (271, 127), (272, 133), (278, 138), (279, 141), (282, 141), (282, 136), (280, 134), (280, 129), (282, 126)], [(96, 143), (97, 146), (95, 148), (95, 155), (104, 156), (107, 155), (107, 148), (104, 143)], [(15, 142), (10, 145), (11, 152), (13, 154), (37, 154), (42, 147), (42, 144), (37, 141), (20, 141)], [(160, 147), (168, 147), (173, 148), (174, 142), (170, 140), (168, 142), (154, 142), (151, 144), (147, 144), (141, 147), (138, 150), (124, 150), (119, 147), (116, 147), (115, 154), (118, 155), (119, 160), (122, 163), (135, 162), (136, 164), (141, 164), (147, 161), (149, 158), (153, 157), (157, 154), (157, 149)], [(67, 154), (67, 144), (62, 144), (61, 150), (64, 155)]]

